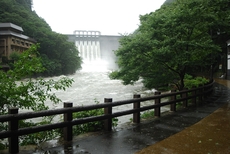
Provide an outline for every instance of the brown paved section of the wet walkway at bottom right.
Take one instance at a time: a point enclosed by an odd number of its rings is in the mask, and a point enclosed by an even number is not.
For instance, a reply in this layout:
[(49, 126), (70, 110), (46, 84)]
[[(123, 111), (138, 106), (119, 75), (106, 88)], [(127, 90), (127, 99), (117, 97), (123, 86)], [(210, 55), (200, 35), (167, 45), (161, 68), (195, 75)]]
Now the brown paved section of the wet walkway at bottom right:
[[(230, 87), (229, 80), (219, 83)], [(223, 106), (194, 125), (136, 154), (230, 154), (230, 91), (215, 101)], [(225, 103), (226, 102), (226, 103)]]

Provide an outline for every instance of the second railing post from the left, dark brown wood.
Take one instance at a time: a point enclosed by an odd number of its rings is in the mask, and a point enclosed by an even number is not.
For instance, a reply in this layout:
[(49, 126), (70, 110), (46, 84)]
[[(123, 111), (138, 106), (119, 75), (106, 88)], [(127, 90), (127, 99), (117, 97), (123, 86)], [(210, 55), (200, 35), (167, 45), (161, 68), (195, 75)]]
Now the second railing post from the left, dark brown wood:
[[(73, 103), (71, 102), (64, 102), (64, 108), (73, 107)], [(71, 122), (73, 120), (72, 112), (64, 113), (64, 122)], [(72, 141), (73, 139), (73, 126), (67, 126), (63, 129), (64, 132), (64, 140), (65, 141)]]

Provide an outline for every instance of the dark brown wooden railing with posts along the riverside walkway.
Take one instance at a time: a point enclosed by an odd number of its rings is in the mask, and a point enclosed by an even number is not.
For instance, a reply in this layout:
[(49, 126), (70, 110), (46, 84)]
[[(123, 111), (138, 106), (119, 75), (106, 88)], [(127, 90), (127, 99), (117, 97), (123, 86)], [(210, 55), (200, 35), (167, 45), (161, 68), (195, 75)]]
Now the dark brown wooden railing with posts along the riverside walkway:
[[(176, 104), (178, 102), (183, 103), (183, 107), (188, 107), (188, 100), (191, 100), (192, 105), (202, 103), (213, 92), (214, 81), (210, 82), (205, 86), (193, 88), (190, 90), (182, 90), (176, 92), (171, 91), (170, 93), (161, 94), (161, 92), (155, 92), (154, 96), (141, 98), (140, 95), (134, 95), (133, 99), (116, 101), (113, 102), (112, 98), (105, 98), (103, 104), (88, 105), (88, 106), (77, 106), (73, 107), (73, 103), (65, 102), (64, 108), (54, 109), (39, 112), (27, 112), (18, 113), (18, 108), (10, 108), (9, 114), (0, 116), (0, 122), (8, 122), (8, 130), (0, 132), (0, 139), (8, 138), (9, 142), (9, 153), (19, 152), (19, 136), (28, 135), (31, 133), (37, 133), (40, 131), (47, 131), (57, 128), (63, 128), (64, 140), (71, 141), (73, 137), (72, 127), (83, 123), (102, 121), (104, 120), (104, 128), (107, 131), (112, 130), (112, 118), (120, 117), (128, 114), (133, 114), (133, 122), (140, 123), (140, 112), (154, 109), (154, 115), (156, 117), (161, 116), (161, 107), (170, 105), (170, 111), (176, 111)], [(169, 98), (167, 102), (161, 102), (161, 99)], [(154, 100), (153, 105), (142, 106), (141, 102)], [(133, 104), (133, 108), (121, 112), (113, 113), (112, 109), (115, 106)], [(82, 119), (73, 119), (72, 114), (74, 112), (87, 111), (93, 109), (104, 108), (104, 115), (87, 117)], [(42, 126), (19, 128), (19, 120), (37, 118), (43, 116), (52, 115), (64, 115), (63, 122), (57, 122), (53, 124), (47, 124)]]

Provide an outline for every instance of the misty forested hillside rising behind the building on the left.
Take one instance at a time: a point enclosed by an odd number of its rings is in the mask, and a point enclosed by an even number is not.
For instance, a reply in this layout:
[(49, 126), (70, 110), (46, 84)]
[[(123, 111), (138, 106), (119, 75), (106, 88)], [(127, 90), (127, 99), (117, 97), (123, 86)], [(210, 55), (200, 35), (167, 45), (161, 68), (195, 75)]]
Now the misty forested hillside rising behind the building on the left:
[[(31, 10), (31, 0), (1, 0), (0, 22), (21, 26), (25, 35), (40, 44), (45, 76), (72, 74), (81, 67), (81, 58), (65, 35), (53, 32), (46, 21)], [(61, 22), (61, 21), (60, 21)]]

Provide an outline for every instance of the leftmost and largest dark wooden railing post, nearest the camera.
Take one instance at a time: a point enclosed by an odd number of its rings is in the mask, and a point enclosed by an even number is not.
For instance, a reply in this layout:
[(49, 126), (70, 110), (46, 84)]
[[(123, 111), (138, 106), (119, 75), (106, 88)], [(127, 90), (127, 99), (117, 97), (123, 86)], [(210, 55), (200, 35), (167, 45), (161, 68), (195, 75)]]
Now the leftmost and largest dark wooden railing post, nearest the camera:
[[(9, 114), (18, 114), (18, 108), (10, 108), (8, 110)], [(14, 132), (18, 130), (18, 120), (11, 120), (8, 123), (9, 131)], [(9, 153), (16, 154), (19, 153), (19, 140), (18, 135), (12, 133), (13, 135), (8, 138), (9, 141)]]

